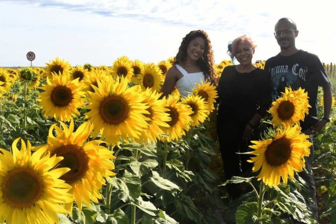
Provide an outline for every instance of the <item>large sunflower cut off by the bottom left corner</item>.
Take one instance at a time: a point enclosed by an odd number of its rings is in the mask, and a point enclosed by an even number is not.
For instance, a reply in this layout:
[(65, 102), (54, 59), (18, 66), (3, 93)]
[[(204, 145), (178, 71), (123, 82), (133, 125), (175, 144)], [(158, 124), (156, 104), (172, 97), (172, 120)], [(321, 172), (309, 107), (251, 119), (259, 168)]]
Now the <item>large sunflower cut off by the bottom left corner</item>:
[(0, 222), (7, 224), (59, 223), (57, 213), (67, 214), (62, 203), (72, 203), (71, 186), (59, 179), (69, 168), (54, 168), (62, 157), (52, 156), (46, 147), (31, 154), (30, 142), (17, 138), (12, 152), (0, 149)]

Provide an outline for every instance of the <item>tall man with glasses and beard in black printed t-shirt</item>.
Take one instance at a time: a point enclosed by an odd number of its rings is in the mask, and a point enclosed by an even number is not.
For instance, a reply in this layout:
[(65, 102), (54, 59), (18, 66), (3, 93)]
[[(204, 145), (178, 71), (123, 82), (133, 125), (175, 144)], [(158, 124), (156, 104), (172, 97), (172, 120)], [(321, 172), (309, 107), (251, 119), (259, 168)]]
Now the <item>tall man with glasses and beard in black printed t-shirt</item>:
[[(310, 141), (312, 141), (312, 134), (320, 131), (327, 122), (330, 121), (330, 111), (332, 107), (332, 85), (326, 74), (326, 71), (320, 59), (307, 51), (299, 50), (295, 46), (295, 38), (298, 36), (295, 22), (290, 18), (281, 18), (275, 25), (275, 39), (280, 46), (280, 53), (272, 58), (269, 58), (265, 63), (265, 70), (271, 73), (273, 90), (273, 98), (281, 96), (277, 90), (282, 77), (285, 77), (287, 87), (292, 87), (297, 90), (299, 87), (308, 92), (309, 104), (312, 108), (309, 109), (309, 114), (301, 123), (302, 132), (310, 134)], [(324, 95), (324, 117), (317, 118), (317, 95), (318, 87), (323, 88)], [(315, 117), (315, 118), (313, 118)], [(315, 122), (314, 122), (315, 120)], [(312, 122), (313, 121), (313, 122)], [(310, 204), (310, 208), (318, 219), (318, 207), (315, 196), (315, 183), (313, 179), (312, 163), (314, 158), (314, 148), (311, 147), (309, 158), (305, 158), (306, 172), (300, 172), (299, 175), (309, 185), (309, 196), (312, 198), (314, 204)]]

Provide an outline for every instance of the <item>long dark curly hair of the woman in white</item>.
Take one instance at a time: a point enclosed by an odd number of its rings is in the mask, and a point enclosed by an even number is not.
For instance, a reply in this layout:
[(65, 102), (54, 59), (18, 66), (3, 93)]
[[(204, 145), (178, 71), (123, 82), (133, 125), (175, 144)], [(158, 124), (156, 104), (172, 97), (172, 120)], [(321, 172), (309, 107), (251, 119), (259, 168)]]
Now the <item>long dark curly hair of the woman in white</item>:
[(204, 73), (204, 76), (207, 81), (210, 81), (212, 84), (217, 84), (217, 78), (214, 70), (214, 51), (212, 50), (211, 41), (208, 34), (203, 30), (193, 30), (188, 33), (181, 42), (179, 47), (179, 52), (174, 57), (174, 65), (184, 62), (187, 59), (187, 48), (189, 43), (196, 37), (202, 37), (205, 40), (204, 53), (201, 58), (199, 58), (196, 63), (200, 66), (201, 70)]

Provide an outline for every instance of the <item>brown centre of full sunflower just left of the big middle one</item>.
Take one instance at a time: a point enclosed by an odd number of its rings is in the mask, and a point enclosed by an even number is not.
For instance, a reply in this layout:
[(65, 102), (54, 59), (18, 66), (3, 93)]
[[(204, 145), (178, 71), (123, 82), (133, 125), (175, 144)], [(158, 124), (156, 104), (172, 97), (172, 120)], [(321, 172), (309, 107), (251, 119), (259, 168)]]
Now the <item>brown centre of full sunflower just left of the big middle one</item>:
[(50, 98), (56, 107), (66, 107), (73, 100), (73, 94), (70, 88), (57, 86), (52, 90)]

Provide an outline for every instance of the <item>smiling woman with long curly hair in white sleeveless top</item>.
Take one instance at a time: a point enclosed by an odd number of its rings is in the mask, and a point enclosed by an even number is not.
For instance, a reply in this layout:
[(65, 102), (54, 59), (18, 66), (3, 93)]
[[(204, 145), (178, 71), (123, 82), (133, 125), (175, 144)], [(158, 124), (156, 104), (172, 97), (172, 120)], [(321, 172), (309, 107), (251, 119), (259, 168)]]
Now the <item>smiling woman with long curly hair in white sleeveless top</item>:
[(162, 86), (162, 96), (168, 96), (176, 87), (181, 97), (188, 96), (195, 83), (203, 81), (216, 85), (214, 52), (208, 34), (203, 30), (193, 30), (182, 40), (173, 67), (166, 74)]

